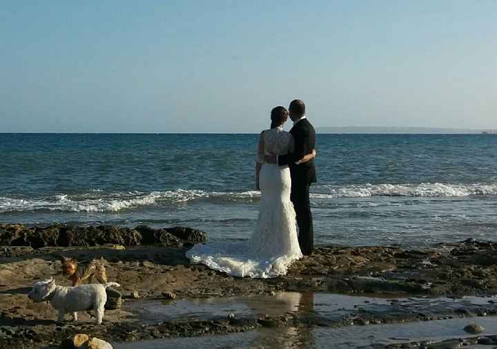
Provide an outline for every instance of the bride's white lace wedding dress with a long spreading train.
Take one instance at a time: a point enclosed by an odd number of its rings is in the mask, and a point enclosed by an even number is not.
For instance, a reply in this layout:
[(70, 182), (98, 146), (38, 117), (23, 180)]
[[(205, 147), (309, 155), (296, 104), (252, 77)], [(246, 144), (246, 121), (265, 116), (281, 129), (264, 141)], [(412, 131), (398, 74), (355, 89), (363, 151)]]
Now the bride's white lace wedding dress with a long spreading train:
[(261, 201), (257, 226), (249, 240), (195, 245), (186, 252), (192, 263), (237, 277), (269, 278), (286, 275), (290, 264), (302, 257), (295, 210), (290, 201), (288, 166), (264, 163), (264, 154), (284, 155), (293, 150), (293, 137), (283, 128), (262, 132), (257, 152)]

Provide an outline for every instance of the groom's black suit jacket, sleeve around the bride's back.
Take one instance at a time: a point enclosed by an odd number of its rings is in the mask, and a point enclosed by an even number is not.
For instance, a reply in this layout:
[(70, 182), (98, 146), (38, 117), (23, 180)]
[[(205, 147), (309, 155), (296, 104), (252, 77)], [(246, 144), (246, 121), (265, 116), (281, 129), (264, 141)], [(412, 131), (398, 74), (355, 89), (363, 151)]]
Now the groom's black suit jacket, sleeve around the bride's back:
[(280, 155), (278, 157), (278, 165), (289, 165), (292, 182), (311, 184), (317, 181), (314, 159), (311, 161), (296, 165), (306, 154), (311, 154), (315, 149), (315, 130), (309, 120), (302, 119), (295, 123), (290, 130), (295, 141), (295, 150), (291, 154)]

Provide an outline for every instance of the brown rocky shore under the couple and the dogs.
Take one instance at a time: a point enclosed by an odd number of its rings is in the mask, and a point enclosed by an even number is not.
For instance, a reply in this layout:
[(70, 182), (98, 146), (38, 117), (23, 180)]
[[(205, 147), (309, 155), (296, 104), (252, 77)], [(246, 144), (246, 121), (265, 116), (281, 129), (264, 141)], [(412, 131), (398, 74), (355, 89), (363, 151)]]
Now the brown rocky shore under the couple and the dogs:
[[(497, 304), (491, 299), (478, 306), (421, 309), (419, 305), (394, 300), (413, 296), (457, 299), (496, 295), (497, 244), (493, 242), (469, 239), (420, 249), (321, 246), (311, 257), (295, 261), (286, 277), (261, 280), (233, 278), (204, 266), (190, 265), (184, 252), (193, 243), (206, 241), (205, 232), (182, 227), (0, 225), (0, 349), (58, 346), (67, 337), (81, 332), (120, 342), (226, 334), (257, 328), (340, 328), (497, 315)], [(59, 254), (79, 261), (103, 258), (110, 281), (121, 284), (123, 305), (117, 310), (108, 310), (101, 326), (93, 325), (85, 314), (81, 314), (78, 323), (57, 324), (55, 310), (50, 305), (33, 304), (26, 297), (34, 281), (50, 275), (56, 275), (58, 283), (69, 285), (70, 282), (59, 275), (60, 262), (55, 257)], [(383, 308), (360, 307), (357, 311), (340, 312), (336, 317), (312, 315), (313, 312), (308, 314), (302, 310), (281, 315), (261, 312), (251, 316), (233, 314), (159, 321), (140, 311), (152, 300), (277, 298), (282, 292), (381, 295), (393, 300)], [(167, 303), (164, 306), (167, 308)], [(483, 341), (491, 343), (490, 339)], [(419, 347), (402, 345), (389, 348)], [(442, 345), (433, 348), (449, 348)]]

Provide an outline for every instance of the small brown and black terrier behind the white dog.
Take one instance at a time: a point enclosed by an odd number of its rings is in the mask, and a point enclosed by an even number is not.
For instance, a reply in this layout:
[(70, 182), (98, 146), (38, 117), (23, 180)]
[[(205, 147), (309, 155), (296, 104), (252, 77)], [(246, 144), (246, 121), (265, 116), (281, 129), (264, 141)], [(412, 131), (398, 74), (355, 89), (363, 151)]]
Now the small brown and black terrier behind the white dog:
[(92, 259), (88, 263), (78, 266), (77, 259), (75, 258), (59, 256), (59, 259), (62, 263), (62, 274), (72, 281), (72, 286), (78, 286), (86, 279), (88, 279), (88, 283), (92, 283), (93, 277), (99, 283), (107, 283), (107, 272), (103, 261)]

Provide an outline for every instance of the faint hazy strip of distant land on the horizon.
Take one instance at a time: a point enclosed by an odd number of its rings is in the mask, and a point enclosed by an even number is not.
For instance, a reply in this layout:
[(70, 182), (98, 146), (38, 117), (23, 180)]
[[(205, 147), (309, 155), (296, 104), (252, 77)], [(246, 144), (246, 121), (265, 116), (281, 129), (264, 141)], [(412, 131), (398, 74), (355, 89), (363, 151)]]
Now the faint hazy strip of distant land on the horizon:
[(427, 128), (427, 127), (383, 127), (343, 126), (321, 127), (318, 133), (335, 134), (482, 134), (488, 130), (474, 128)]

